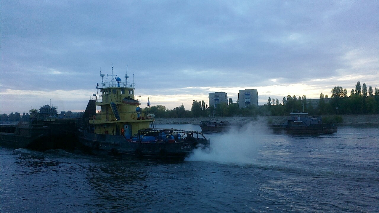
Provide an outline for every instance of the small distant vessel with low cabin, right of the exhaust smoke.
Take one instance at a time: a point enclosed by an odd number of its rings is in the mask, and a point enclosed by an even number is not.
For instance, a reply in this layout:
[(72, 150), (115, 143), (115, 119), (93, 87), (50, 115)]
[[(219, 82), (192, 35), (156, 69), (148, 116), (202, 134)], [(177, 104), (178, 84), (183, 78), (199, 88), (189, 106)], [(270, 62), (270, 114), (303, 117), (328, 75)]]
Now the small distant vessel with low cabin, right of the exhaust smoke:
[(290, 118), (284, 124), (270, 124), (274, 133), (291, 134), (331, 134), (337, 132), (334, 124), (323, 124), (322, 117), (309, 117), (308, 113), (290, 113)]

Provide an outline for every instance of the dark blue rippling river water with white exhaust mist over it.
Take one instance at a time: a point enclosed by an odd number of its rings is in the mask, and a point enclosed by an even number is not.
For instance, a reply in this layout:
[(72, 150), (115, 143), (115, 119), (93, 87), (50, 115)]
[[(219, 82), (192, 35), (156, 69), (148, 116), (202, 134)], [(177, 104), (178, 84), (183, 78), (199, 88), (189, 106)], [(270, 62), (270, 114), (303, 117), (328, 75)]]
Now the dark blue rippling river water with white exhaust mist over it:
[(205, 136), (184, 162), (0, 147), (0, 212), (379, 212), (378, 128)]

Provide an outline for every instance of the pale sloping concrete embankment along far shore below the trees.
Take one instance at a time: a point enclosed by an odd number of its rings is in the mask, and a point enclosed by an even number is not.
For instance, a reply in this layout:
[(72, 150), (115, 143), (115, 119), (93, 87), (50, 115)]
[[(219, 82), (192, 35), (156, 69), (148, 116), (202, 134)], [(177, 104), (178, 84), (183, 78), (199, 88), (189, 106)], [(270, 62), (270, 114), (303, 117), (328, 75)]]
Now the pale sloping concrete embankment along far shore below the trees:
[[(369, 115), (338, 115), (342, 122), (337, 125), (352, 125), (361, 127), (379, 127), (379, 114)], [(200, 124), (200, 121), (228, 121), (232, 124), (247, 124), (249, 122), (282, 123), (289, 116), (257, 116), (257, 117), (192, 117), (192, 118), (155, 118), (156, 124)], [(333, 116), (328, 116), (333, 117)]]

